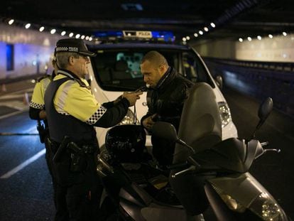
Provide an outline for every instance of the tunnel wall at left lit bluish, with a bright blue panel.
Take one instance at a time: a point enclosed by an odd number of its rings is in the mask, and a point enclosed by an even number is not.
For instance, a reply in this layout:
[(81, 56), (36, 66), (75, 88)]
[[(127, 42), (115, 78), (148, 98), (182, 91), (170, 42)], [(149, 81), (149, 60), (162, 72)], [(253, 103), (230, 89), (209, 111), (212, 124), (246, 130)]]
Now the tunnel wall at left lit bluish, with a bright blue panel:
[[(59, 36), (0, 23), (0, 80), (44, 73)], [(13, 47), (13, 60), (7, 53)], [(8, 63), (13, 62), (12, 70)]]

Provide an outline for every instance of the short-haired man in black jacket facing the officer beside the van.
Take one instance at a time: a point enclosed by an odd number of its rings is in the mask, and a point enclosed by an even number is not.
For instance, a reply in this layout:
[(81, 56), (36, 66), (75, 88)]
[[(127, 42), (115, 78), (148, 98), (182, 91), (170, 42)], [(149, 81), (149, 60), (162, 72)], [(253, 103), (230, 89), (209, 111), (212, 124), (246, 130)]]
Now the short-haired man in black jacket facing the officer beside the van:
[[(175, 69), (157, 51), (150, 51), (141, 60), (141, 72), (144, 82), (149, 85), (147, 92), (148, 112), (141, 124), (152, 132), (156, 120), (169, 122), (178, 130), (185, 99), (193, 85)], [(156, 136), (151, 136), (153, 156), (162, 168), (173, 162), (175, 144)]]

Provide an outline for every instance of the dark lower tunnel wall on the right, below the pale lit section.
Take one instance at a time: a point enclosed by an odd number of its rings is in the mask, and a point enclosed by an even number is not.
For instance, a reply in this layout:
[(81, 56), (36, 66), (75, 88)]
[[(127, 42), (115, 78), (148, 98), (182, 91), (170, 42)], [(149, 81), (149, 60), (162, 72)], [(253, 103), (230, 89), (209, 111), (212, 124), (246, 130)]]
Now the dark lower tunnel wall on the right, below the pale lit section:
[(294, 63), (249, 62), (204, 58), (212, 75), (221, 75), (224, 87), (263, 100), (294, 117)]

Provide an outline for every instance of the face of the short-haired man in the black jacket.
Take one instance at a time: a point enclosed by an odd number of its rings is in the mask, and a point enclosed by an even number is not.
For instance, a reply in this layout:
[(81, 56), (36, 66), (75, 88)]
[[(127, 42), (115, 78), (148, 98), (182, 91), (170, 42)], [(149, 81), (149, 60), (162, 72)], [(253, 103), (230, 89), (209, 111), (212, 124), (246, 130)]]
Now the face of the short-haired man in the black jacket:
[(141, 73), (144, 77), (144, 82), (150, 87), (156, 87), (158, 81), (164, 74), (162, 67), (156, 67), (149, 60), (144, 61), (141, 65)]

